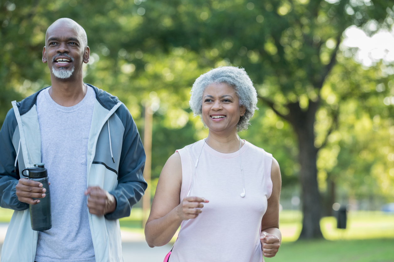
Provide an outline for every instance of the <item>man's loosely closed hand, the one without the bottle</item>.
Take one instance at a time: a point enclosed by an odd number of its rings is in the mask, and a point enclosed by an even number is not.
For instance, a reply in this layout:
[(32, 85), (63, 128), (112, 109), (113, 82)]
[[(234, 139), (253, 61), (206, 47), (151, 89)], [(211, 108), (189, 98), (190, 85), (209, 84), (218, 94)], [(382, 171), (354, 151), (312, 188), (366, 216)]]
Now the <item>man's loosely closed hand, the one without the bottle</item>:
[(88, 187), (85, 191), (89, 213), (103, 216), (112, 213), (116, 208), (115, 197), (100, 187)]

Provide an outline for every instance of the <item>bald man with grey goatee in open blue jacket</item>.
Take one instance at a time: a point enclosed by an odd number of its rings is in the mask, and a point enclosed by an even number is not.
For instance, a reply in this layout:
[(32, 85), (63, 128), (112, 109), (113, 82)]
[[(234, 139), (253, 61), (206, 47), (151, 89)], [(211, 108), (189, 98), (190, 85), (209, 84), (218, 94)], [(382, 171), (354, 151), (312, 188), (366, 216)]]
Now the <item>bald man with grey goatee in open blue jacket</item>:
[[(0, 131), (1, 207), (15, 210), (2, 262), (123, 261), (118, 218), (147, 188), (145, 152), (117, 97), (83, 82), (85, 30), (69, 18), (48, 27), (43, 62), (51, 86), (13, 101)], [(46, 196), (21, 170), (48, 169), (52, 228), (33, 231), (29, 204)]]

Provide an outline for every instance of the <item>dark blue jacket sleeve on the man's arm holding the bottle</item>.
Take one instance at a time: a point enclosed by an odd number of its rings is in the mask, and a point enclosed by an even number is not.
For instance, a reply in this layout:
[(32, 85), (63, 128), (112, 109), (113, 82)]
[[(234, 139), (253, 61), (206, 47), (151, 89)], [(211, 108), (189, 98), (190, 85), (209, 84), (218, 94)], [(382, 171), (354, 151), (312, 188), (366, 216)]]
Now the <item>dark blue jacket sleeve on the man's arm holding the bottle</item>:
[(17, 198), (15, 186), (19, 180), (19, 169), (14, 170), (17, 152), (12, 144), (12, 137), (17, 128), (14, 110), (8, 111), (0, 130), (0, 206), (17, 211), (29, 208), (29, 204), (20, 202)]

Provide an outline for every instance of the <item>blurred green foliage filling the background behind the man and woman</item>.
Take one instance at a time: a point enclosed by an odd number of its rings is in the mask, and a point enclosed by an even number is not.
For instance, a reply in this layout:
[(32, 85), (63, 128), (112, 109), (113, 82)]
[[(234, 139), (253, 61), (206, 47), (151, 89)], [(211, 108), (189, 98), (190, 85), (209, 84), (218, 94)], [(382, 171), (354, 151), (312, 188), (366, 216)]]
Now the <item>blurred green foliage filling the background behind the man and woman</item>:
[[(176, 149), (207, 135), (188, 108), (194, 80), (234, 65), (260, 98), (240, 136), (273, 154), (284, 186), (296, 184), (301, 168), (288, 106), (304, 114), (318, 103), (311, 139), (320, 192), (334, 181), (354, 197), (394, 200), (393, 75), (383, 62), (364, 68), (356, 50), (340, 46), (351, 25), (370, 35), (391, 27), (392, 2), (249, 1), (0, 1), (0, 123), (11, 100), (50, 85), (40, 61), (45, 31), (69, 17), (85, 28), (91, 49), (84, 81), (117, 95), (141, 131), (143, 106), (152, 104), (152, 178)], [(368, 31), (372, 20), (377, 29)]]

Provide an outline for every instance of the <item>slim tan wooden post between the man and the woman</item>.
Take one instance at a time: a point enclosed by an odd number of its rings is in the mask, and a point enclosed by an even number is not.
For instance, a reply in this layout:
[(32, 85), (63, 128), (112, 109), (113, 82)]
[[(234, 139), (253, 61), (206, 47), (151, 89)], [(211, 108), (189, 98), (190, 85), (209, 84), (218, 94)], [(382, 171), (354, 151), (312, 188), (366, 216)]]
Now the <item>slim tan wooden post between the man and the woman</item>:
[(142, 197), (142, 227), (148, 220), (151, 209), (151, 165), (152, 165), (152, 109), (150, 103), (145, 104), (145, 127), (144, 127), (144, 149), (146, 154), (144, 179), (148, 183), (145, 194)]

